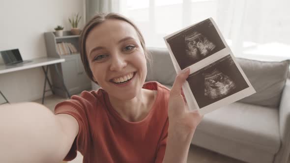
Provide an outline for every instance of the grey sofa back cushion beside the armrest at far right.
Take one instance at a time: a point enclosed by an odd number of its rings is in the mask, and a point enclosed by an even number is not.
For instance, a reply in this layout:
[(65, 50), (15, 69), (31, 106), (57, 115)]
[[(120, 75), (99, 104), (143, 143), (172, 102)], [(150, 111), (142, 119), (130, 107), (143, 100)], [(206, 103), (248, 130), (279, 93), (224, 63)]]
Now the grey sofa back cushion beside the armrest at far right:
[(240, 102), (278, 108), (290, 61), (264, 62), (243, 58), (236, 60), (257, 92)]

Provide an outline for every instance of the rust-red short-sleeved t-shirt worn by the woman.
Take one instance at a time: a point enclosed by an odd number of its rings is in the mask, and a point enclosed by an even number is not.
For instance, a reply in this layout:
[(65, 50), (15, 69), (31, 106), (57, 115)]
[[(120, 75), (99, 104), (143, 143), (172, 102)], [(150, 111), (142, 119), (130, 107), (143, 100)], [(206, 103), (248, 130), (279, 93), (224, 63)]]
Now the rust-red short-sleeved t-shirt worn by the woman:
[(79, 123), (79, 133), (64, 158), (71, 161), (77, 150), (83, 163), (162, 163), (168, 135), (169, 89), (156, 81), (145, 89), (157, 90), (148, 115), (139, 122), (122, 119), (102, 88), (58, 103), (55, 114), (66, 113)]

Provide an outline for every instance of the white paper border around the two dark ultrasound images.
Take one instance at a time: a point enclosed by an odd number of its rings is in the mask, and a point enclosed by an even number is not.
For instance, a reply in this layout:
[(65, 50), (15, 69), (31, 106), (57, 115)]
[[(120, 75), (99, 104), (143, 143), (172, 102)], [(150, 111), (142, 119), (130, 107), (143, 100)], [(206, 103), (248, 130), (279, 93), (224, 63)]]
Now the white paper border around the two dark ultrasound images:
[[(221, 40), (223, 41), (223, 44), (226, 46), (226, 48), (224, 48), (224, 49), (220, 50), (219, 52), (217, 52), (215, 54), (212, 54), (212, 55), (204, 58), (203, 60), (201, 60), (201, 61), (189, 66), (190, 74), (192, 74), (192, 73), (202, 69), (203, 67), (205, 67), (205, 66), (207, 66), (207, 65), (209, 65), (209, 64), (211, 64), (211, 63), (213, 63), (213, 62), (215, 62), (215, 61), (217, 61), (217, 60), (219, 60), (219, 59), (221, 59), (221, 58), (223, 58), (223, 57), (225, 57), (225, 56), (230, 54), (231, 57), (232, 57), (232, 60), (234, 61), (235, 65), (236, 65), (236, 67), (238, 68), (238, 70), (242, 74), (244, 80), (247, 82), (249, 87), (247, 87), (247, 88), (245, 88), (245, 89), (243, 89), (243, 90), (241, 90), (239, 92), (236, 92), (236, 93), (232, 94), (231, 96), (225, 97), (224, 99), (221, 99), (221, 100), (219, 100), (217, 102), (214, 102), (214, 103), (212, 103), (210, 105), (207, 105), (207, 106), (205, 106), (203, 108), (200, 108), (198, 106), (198, 104), (197, 104), (196, 99), (194, 98), (194, 95), (193, 95), (193, 93), (192, 93), (192, 91), (190, 89), (188, 81), (185, 81), (185, 83), (182, 85), (182, 90), (183, 90), (183, 93), (185, 95), (188, 107), (189, 107), (190, 110), (197, 109), (200, 112), (200, 114), (202, 114), (202, 115), (206, 114), (206, 113), (209, 113), (209, 112), (211, 112), (211, 111), (213, 111), (215, 109), (219, 109), (219, 108), (221, 108), (223, 106), (229, 105), (229, 104), (231, 104), (231, 103), (233, 103), (235, 101), (238, 101), (238, 100), (240, 100), (240, 99), (242, 99), (244, 97), (250, 96), (253, 93), (256, 93), (255, 89), (253, 88), (252, 84), (250, 83), (250, 81), (246, 77), (245, 73), (243, 72), (243, 70), (241, 69), (239, 64), (236, 62), (235, 57), (232, 54), (231, 49), (229, 48), (229, 46), (228, 46), (227, 42), (225, 41), (224, 37), (222, 36), (222, 34), (221, 34), (219, 28), (217, 27), (216, 23), (214, 22), (214, 20), (212, 18), (209, 18), (209, 20), (214, 25), (215, 29), (217, 30), (217, 32), (218, 32)], [(201, 22), (199, 22), (199, 23), (201, 23)], [(167, 42), (167, 39), (172, 37), (172, 36), (174, 36), (177, 33), (182, 32), (183, 30), (185, 30), (187, 28), (190, 28), (190, 27), (193, 27), (193, 26), (195, 26), (197, 24), (198, 23), (196, 23), (194, 25), (191, 25), (189, 27), (185, 27), (185, 28), (183, 28), (181, 30), (178, 30), (178, 31), (176, 31), (176, 32), (164, 37), (166, 46), (167, 46), (167, 48), (169, 50), (170, 57), (171, 57), (171, 59), (173, 61), (174, 69), (175, 69), (177, 74), (179, 74), (181, 72), (181, 68), (179, 67), (179, 64), (177, 63), (177, 61), (176, 61), (176, 59), (174, 57), (174, 54), (173, 54), (173, 52), (171, 50), (170, 45)]]

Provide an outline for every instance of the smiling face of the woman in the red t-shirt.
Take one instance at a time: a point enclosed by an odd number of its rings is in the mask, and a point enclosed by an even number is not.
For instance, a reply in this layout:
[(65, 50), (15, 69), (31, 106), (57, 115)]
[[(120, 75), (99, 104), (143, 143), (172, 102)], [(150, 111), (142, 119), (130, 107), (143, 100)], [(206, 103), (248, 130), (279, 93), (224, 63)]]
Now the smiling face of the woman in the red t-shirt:
[(94, 27), (86, 52), (95, 81), (112, 97), (130, 100), (140, 93), (147, 68), (144, 50), (134, 27), (121, 20), (106, 20)]

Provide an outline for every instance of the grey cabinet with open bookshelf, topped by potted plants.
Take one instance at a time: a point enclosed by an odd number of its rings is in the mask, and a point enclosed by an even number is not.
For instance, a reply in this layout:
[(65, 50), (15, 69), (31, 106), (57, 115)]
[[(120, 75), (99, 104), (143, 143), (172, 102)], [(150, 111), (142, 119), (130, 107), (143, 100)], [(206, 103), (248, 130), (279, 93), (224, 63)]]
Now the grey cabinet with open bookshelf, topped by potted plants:
[[(60, 80), (63, 80), (70, 95), (91, 89), (91, 82), (87, 77), (79, 53), (79, 35), (72, 35), (70, 31), (63, 31), (63, 36), (56, 37), (55, 32), (45, 32), (44, 37), (47, 56), (65, 59), (64, 62), (58, 63), (60, 79), (57, 76), (56, 70), (54, 68), (50, 69), (55, 94), (67, 97), (65, 90), (62, 89), (62, 81)], [(71, 43), (78, 52), (64, 55), (59, 54), (57, 44), (61, 42)]]

